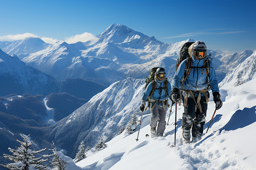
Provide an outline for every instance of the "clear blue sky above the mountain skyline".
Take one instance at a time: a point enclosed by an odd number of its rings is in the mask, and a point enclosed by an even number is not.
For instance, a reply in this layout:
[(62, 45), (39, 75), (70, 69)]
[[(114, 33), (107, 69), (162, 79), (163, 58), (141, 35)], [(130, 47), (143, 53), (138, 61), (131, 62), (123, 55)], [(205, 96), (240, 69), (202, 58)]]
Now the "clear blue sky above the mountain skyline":
[(243, 1), (3, 1), (0, 41), (31, 33), (67, 40), (84, 32), (100, 35), (123, 24), (163, 42), (191, 38), (209, 49), (256, 49), (256, 2)]

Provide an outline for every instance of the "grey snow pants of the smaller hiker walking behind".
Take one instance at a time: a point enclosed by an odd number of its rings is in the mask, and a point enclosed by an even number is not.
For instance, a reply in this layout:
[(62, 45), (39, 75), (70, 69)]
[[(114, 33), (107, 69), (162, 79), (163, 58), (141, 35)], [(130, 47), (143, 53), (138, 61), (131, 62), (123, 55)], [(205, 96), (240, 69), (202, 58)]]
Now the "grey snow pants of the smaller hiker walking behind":
[(151, 119), (150, 119), (150, 126), (151, 128), (156, 128), (156, 134), (158, 136), (163, 136), (164, 130), (166, 129), (166, 112), (167, 112), (167, 105), (152, 105), (150, 106), (151, 112)]

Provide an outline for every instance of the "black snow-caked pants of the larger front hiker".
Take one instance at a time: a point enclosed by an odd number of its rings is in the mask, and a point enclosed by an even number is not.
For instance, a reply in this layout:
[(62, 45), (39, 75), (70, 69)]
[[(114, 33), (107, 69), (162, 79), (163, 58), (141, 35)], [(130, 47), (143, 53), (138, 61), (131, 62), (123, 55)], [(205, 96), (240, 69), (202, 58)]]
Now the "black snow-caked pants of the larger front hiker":
[[(197, 97), (195, 97), (197, 101)], [(204, 130), (205, 117), (207, 114), (207, 103), (205, 96), (201, 96), (200, 104), (202, 107), (202, 113), (200, 109), (196, 107), (195, 101), (188, 97), (187, 107), (184, 107), (184, 113), (182, 117), (182, 128), (184, 130), (191, 130), (192, 137), (201, 137)]]

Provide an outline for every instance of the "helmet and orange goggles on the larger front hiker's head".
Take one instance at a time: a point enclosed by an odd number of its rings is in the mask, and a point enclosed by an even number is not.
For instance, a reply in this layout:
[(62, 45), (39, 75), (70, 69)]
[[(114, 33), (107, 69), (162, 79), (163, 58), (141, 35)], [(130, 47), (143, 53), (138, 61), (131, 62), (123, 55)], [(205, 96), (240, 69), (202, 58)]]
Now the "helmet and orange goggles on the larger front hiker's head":
[(203, 41), (196, 41), (188, 48), (188, 53), (196, 59), (203, 59), (207, 56), (207, 46)]

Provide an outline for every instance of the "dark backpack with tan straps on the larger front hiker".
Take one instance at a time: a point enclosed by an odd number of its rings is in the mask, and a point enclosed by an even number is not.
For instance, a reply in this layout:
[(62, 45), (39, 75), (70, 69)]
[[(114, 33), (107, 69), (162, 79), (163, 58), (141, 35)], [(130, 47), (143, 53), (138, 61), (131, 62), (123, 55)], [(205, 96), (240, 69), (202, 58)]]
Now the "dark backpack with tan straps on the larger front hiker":
[(177, 58), (177, 62), (175, 65), (175, 73), (177, 71), (177, 69), (179, 68), (180, 63), (187, 58), (186, 61), (186, 66), (185, 66), (185, 72), (183, 75), (183, 78), (181, 79), (181, 86), (183, 86), (183, 84), (185, 83), (185, 80), (188, 78), (188, 75), (191, 71), (192, 68), (204, 68), (205, 69), (205, 73), (207, 74), (207, 79), (208, 79), (208, 88), (209, 88), (209, 73), (210, 73), (210, 64), (209, 64), (209, 58), (210, 56), (212, 56), (212, 54), (209, 54), (207, 58), (205, 58), (204, 60), (204, 65), (201, 67), (195, 67), (192, 66), (192, 58), (191, 56), (188, 54), (188, 48), (189, 46), (191, 46), (194, 42), (185, 42), (185, 44), (182, 45), (181, 49), (180, 49), (180, 54), (179, 57)]

